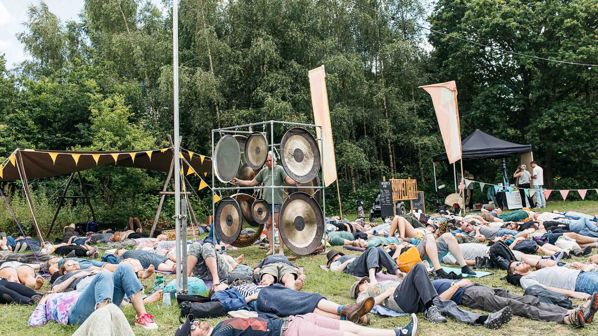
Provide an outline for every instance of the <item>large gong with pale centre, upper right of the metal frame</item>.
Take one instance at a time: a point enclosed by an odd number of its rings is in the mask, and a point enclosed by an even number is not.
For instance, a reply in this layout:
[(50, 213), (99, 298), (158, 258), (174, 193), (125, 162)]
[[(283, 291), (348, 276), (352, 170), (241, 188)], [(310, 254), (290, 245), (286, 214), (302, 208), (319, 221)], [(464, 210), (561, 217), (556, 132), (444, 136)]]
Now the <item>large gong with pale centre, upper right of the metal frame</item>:
[(320, 149), (316, 139), (306, 129), (294, 127), (286, 131), (280, 148), (280, 162), (292, 179), (308, 183), (318, 175)]

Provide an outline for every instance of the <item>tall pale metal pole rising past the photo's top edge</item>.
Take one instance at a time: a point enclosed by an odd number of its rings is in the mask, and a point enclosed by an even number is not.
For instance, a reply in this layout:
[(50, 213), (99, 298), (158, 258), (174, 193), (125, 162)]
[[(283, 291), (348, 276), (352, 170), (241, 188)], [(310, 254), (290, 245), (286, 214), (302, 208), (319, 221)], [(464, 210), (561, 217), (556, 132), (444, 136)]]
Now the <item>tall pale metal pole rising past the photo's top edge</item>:
[[(179, 10), (178, 0), (172, 2), (172, 82), (175, 125), (175, 231), (176, 248), (181, 251), (181, 161), (179, 160)], [(185, 274), (187, 276), (187, 274)], [(176, 291), (181, 292), (181, 259), (176, 258)]]

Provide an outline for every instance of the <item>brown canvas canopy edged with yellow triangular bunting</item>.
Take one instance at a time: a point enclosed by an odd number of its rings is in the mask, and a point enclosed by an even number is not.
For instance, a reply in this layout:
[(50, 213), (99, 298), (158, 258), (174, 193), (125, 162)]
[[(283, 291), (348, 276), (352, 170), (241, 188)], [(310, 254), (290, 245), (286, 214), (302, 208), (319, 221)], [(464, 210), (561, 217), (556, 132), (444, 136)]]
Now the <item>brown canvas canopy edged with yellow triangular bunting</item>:
[[(33, 225), (35, 225), (39, 241), (42, 242), (43, 238), (37, 225), (33, 201), (29, 193), (28, 179), (73, 174), (99, 166), (121, 166), (167, 172), (169, 173), (168, 182), (172, 173), (173, 154), (173, 147), (114, 152), (16, 149), (7, 160), (0, 164), (0, 182), (18, 180), (23, 182), (33, 216)], [(180, 158), (182, 174), (197, 173), (200, 178), (205, 178), (212, 173), (212, 158), (210, 157), (182, 149)], [(164, 184), (165, 188), (166, 185)], [(160, 201), (160, 205), (162, 201)]]

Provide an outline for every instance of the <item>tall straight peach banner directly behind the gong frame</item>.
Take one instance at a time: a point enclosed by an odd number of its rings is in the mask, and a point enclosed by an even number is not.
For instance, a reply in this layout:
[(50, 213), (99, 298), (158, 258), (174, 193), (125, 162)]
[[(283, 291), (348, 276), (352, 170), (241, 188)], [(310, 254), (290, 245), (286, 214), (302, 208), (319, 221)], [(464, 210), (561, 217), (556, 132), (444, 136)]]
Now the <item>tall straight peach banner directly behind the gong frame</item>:
[(336, 158), (334, 157), (334, 142), (332, 142), (332, 125), (328, 107), (328, 93), (326, 91), (326, 73), (324, 65), (309, 71), (309, 87), (312, 93), (313, 123), (322, 126), (322, 132), (316, 127), (316, 136), (320, 151), (324, 153), (326, 162), (322, 162), (325, 187), (337, 179)]

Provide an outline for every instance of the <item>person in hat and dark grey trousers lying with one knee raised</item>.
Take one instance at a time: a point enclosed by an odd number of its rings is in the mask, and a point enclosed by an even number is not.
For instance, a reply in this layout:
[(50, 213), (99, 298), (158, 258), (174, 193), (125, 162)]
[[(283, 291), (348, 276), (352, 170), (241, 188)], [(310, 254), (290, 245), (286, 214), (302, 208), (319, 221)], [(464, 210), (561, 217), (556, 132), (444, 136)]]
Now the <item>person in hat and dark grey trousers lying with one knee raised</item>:
[(411, 268), (402, 281), (389, 280), (374, 284), (370, 282), (370, 278), (362, 277), (353, 283), (349, 295), (357, 302), (374, 297), (374, 304), (380, 304), (398, 313), (425, 312), (426, 320), (434, 323), (446, 323), (447, 319), (443, 316), (446, 314), (460, 322), (498, 329), (512, 317), (511, 307), (504, 307), (489, 315), (481, 315), (463, 310), (454, 301), (441, 298), (421, 262)]

